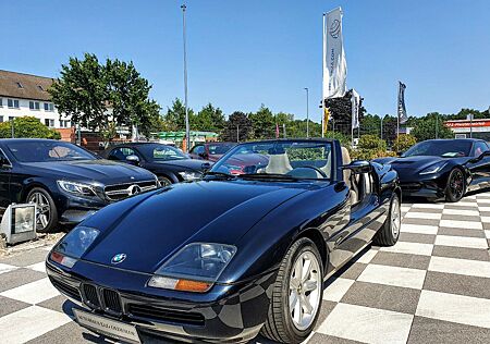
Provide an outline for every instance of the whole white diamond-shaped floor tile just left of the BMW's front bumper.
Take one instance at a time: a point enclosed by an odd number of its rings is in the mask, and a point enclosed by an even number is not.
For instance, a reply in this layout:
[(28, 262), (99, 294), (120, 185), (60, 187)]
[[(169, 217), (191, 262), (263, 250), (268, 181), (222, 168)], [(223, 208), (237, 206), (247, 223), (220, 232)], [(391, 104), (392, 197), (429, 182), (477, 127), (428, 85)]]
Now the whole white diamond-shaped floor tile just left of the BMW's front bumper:
[(60, 293), (51, 285), (49, 279), (42, 279), (36, 282), (27, 283), (12, 290), (8, 290), (0, 295), (17, 299), (27, 304), (38, 304)]

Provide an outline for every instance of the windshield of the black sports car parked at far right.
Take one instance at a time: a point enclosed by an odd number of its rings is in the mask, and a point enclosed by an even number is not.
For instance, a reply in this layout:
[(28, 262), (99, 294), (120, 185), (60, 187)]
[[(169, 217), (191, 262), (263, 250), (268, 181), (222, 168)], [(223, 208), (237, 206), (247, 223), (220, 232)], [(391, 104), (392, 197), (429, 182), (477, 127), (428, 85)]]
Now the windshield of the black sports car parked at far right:
[(443, 158), (468, 157), (471, 151), (469, 140), (426, 140), (413, 146), (402, 157), (431, 156)]

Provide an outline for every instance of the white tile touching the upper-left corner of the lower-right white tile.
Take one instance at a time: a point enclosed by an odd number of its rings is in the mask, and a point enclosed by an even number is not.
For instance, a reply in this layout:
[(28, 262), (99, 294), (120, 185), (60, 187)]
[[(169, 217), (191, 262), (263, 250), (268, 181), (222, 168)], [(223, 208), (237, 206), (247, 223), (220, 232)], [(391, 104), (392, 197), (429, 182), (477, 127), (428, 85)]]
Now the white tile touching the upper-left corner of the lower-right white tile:
[(357, 281), (421, 290), (425, 279), (425, 270), (369, 265)]

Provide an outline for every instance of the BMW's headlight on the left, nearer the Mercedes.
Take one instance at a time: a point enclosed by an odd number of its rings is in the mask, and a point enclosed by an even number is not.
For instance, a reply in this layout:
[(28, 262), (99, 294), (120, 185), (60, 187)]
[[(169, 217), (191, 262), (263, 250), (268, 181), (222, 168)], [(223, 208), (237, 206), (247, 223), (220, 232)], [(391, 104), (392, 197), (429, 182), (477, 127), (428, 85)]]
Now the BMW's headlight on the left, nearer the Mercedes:
[(99, 230), (83, 225), (73, 229), (54, 246), (50, 256), (51, 260), (72, 268), (99, 233)]

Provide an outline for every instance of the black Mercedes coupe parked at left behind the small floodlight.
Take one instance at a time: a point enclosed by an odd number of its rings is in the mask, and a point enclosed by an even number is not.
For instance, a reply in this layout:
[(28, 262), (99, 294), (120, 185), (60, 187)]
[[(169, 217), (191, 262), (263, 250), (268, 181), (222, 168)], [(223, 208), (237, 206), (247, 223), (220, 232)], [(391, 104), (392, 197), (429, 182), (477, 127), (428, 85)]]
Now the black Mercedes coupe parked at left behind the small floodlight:
[(0, 208), (37, 204), (37, 231), (78, 223), (110, 202), (157, 187), (155, 174), (51, 139), (0, 139)]

